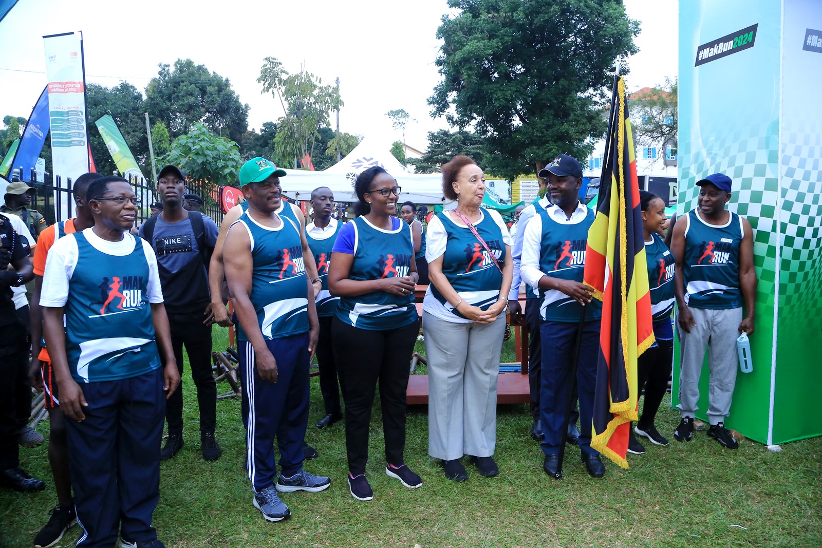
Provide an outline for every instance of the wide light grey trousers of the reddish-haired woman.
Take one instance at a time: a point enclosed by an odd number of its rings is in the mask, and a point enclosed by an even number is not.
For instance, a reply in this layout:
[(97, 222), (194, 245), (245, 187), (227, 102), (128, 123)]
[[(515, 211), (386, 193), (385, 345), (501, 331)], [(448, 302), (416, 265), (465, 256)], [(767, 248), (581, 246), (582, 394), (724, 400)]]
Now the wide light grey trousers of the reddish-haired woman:
[(506, 316), (457, 324), (423, 311), (428, 358), (428, 454), (490, 457), (496, 446), (496, 380)]

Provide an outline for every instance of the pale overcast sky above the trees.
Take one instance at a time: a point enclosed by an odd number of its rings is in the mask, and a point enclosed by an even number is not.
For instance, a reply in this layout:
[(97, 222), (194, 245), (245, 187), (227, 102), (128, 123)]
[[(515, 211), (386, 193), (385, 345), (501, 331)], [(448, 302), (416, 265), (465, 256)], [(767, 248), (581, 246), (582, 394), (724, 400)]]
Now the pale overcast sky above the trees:
[[(628, 90), (676, 77), (677, 0), (624, 2), (642, 25)], [(445, 119), (432, 119), (426, 102), (439, 81), (436, 28), (449, 12), (445, 0), (220, 3), (19, 0), (0, 22), (0, 117), (28, 117), (43, 90), (42, 37), (82, 30), (87, 81), (127, 81), (145, 92), (159, 63), (191, 58), (231, 81), (251, 107), (250, 128), (283, 115), (279, 101), (262, 95), (256, 81), (263, 58), (272, 56), (289, 72), (304, 65), (323, 83), (339, 77), (341, 131), (390, 143), (400, 138), (385, 116), (395, 108), (417, 120), (409, 124), (406, 142), (419, 150), (427, 147), (428, 131), (448, 129)]]

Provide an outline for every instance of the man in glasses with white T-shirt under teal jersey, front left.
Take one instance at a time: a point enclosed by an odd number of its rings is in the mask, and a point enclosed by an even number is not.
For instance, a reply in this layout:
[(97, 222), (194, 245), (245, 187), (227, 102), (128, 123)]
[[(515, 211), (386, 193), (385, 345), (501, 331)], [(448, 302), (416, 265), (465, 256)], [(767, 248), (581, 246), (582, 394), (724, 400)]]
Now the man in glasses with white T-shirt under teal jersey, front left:
[(69, 419), (79, 544), (114, 546), (119, 533), (123, 546), (162, 548), (151, 518), (165, 401), (180, 375), (157, 260), (129, 233), (139, 201), (125, 179), (91, 182), (86, 201), (95, 225), (54, 243), (39, 301)]

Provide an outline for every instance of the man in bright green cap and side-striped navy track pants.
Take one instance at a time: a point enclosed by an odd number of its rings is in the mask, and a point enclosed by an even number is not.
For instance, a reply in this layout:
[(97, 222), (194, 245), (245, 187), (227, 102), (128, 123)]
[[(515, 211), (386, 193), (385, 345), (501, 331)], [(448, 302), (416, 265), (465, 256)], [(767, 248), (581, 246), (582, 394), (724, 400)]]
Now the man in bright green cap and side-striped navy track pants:
[[(316, 348), (312, 280), (306, 275), (301, 225), (275, 212), (283, 202), (285, 172), (265, 159), (240, 169), (248, 209), (225, 237), (225, 277), (239, 320), (242, 421), (248, 478), (263, 518), (289, 518), (277, 491), (316, 492), (330, 479), (302, 470), (308, 422), (308, 363)], [(279, 447), (280, 472), (274, 442)], [(276, 485), (275, 485), (276, 481)]]

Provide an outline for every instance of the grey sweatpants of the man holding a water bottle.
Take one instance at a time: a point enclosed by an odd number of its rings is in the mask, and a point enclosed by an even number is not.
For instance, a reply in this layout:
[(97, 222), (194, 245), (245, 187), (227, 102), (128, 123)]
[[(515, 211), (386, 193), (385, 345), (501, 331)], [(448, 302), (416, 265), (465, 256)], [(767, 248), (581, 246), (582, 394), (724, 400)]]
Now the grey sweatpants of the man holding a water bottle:
[(700, 399), (700, 373), (708, 347), (709, 389), (708, 420), (712, 425), (723, 422), (731, 409), (733, 387), (737, 382), (737, 337), (742, 309), (708, 310), (690, 308), (696, 325), (686, 333), (679, 326), (680, 341), (679, 400), (682, 417), (694, 417)]

